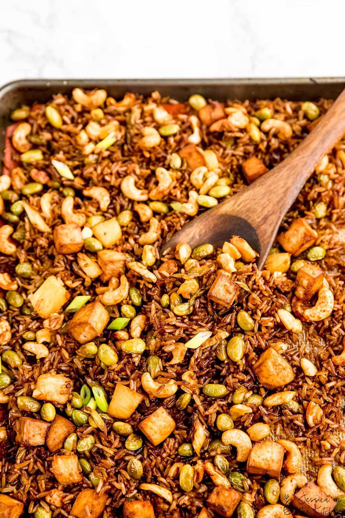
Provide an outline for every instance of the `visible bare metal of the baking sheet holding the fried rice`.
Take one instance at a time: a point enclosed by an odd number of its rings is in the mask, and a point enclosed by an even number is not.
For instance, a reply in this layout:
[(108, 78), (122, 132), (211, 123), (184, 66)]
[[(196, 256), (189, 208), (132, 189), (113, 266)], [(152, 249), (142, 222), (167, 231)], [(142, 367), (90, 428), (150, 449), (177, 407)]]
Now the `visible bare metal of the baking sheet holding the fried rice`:
[[(345, 77), (280, 78), (280, 79), (23, 79), (0, 88), (0, 164), (5, 147), (6, 127), (10, 113), (22, 104), (45, 103), (57, 93), (71, 94), (73, 88), (91, 90), (104, 88), (115, 98), (126, 92), (149, 95), (158, 90), (161, 95), (186, 101), (191, 94), (201, 94), (215, 100), (256, 100), (281, 97), (288, 100), (335, 99), (345, 88)], [(1, 167), (0, 167), (1, 170)], [(301, 337), (307, 352), (309, 344)], [(342, 423), (345, 425), (345, 419)], [(343, 435), (343, 434), (341, 434)], [(341, 437), (345, 440), (345, 436)], [(309, 461), (313, 451), (304, 449), (301, 472), (317, 471)]]

